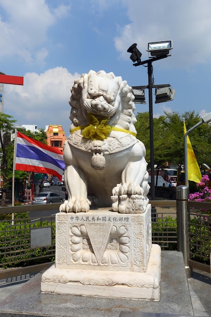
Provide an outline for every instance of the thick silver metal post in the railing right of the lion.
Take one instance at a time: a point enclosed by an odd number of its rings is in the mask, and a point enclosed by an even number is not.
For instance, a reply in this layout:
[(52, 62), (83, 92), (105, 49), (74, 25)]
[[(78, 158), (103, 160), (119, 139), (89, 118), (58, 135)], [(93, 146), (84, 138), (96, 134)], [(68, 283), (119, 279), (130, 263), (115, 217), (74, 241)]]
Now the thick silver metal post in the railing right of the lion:
[(191, 278), (191, 270), (189, 267), (190, 250), (188, 241), (188, 223), (190, 215), (187, 209), (187, 201), (189, 199), (189, 187), (186, 185), (178, 186), (176, 199), (178, 251), (181, 251), (183, 253), (186, 275), (187, 278)]

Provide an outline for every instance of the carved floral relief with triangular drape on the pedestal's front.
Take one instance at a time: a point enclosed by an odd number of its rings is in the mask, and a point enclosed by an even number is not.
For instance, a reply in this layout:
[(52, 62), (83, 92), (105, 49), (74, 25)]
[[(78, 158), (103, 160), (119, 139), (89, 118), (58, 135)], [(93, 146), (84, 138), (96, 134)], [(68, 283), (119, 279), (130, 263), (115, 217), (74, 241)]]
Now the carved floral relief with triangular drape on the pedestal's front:
[(69, 226), (68, 251), (71, 264), (129, 266), (130, 226), (112, 224), (106, 228), (105, 224), (92, 224), (91, 227)]

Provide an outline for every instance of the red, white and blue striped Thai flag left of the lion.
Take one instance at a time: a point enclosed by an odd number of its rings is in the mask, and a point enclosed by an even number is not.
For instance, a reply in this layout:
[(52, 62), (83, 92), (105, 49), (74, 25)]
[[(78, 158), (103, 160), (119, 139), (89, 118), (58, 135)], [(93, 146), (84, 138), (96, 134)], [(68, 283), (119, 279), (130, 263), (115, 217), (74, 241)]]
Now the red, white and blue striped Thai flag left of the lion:
[(65, 163), (60, 149), (31, 139), (17, 131), (15, 170), (47, 173), (62, 180)]

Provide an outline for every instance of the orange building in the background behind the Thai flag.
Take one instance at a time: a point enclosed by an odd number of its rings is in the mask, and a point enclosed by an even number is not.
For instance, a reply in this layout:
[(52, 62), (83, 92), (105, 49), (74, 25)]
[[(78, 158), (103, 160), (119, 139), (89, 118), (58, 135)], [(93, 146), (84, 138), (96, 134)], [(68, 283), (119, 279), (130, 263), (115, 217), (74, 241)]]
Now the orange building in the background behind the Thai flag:
[(62, 126), (50, 125), (47, 127), (46, 135), (48, 145), (55, 146), (63, 152), (63, 145), (66, 137)]

